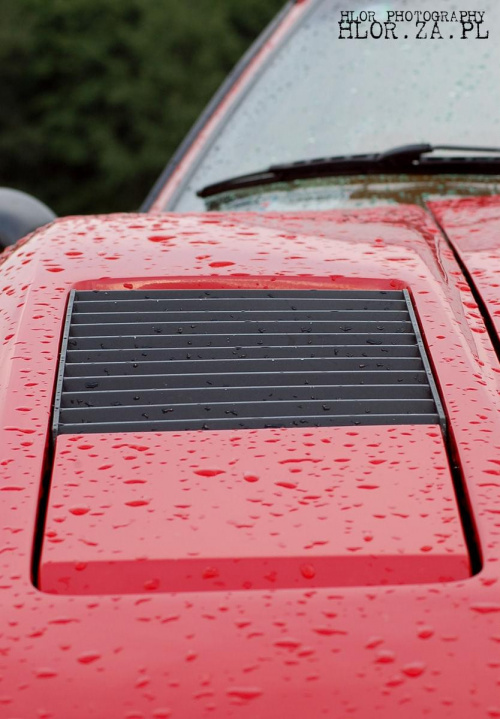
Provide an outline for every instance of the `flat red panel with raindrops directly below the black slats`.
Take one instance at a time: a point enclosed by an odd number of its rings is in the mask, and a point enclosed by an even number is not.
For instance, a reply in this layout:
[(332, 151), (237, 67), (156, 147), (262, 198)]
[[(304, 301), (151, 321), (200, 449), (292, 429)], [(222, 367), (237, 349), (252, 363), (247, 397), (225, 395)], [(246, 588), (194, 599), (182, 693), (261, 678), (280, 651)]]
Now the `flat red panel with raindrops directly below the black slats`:
[(470, 574), (435, 426), (62, 435), (45, 537), (40, 587), (55, 593)]

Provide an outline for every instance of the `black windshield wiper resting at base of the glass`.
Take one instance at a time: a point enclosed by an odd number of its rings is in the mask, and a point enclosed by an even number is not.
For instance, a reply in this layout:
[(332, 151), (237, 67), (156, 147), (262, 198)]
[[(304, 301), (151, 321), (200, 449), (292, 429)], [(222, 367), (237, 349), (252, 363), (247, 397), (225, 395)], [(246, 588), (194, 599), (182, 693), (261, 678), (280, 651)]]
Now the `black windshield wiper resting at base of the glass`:
[[(494, 156), (449, 156), (427, 157), (436, 150), (491, 153)], [(498, 155), (496, 157), (495, 155)], [(261, 172), (239, 175), (207, 185), (196, 194), (198, 197), (211, 197), (221, 192), (240, 190), (246, 187), (268, 185), (275, 182), (307, 180), (336, 175), (373, 175), (373, 174), (414, 174), (428, 175), (440, 173), (456, 174), (500, 174), (500, 147), (468, 147), (466, 145), (403, 145), (385, 152), (366, 155), (340, 155), (322, 157), (315, 160), (302, 160), (282, 165), (271, 165)]]

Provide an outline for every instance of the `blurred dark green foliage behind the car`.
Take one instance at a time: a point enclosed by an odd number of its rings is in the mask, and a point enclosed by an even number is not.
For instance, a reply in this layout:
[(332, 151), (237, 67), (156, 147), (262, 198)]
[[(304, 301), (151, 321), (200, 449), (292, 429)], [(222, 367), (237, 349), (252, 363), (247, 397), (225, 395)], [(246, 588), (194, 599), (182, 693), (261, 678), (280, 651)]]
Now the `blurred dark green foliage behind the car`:
[(0, 185), (135, 210), (284, 0), (4, 0)]

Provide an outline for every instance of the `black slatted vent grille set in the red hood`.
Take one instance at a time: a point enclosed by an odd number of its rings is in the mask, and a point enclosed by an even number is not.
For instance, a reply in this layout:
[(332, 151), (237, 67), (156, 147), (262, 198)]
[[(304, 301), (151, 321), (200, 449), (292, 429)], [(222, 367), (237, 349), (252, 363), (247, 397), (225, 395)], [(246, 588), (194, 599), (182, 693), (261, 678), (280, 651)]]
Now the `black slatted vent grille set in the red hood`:
[(54, 435), (434, 423), (406, 291), (71, 293)]

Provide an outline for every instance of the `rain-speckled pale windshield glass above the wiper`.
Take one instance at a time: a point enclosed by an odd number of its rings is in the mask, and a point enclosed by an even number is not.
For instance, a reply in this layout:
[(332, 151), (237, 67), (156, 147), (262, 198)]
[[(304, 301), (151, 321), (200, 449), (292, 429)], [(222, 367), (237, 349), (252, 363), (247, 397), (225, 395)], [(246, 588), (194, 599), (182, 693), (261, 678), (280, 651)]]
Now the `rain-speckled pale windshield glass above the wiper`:
[[(237, 107), (214, 132), (169, 209), (204, 210), (196, 191), (213, 182), (298, 159), (377, 152), (415, 142), (500, 145), (500, 3), (469, 0), (485, 12), (466, 40), (459, 23), (397, 23), (394, 39), (339, 39), (340, 10), (423, 12), (456, 2), (313, 2)], [(439, 7), (438, 7), (439, 6)], [(369, 31), (369, 23), (359, 26)], [(419, 31), (427, 39), (417, 39)], [(404, 34), (408, 38), (404, 39)], [(369, 34), (369, 32), (368, 32)], [(453, 39), (450, 39), (450, 35)]]

